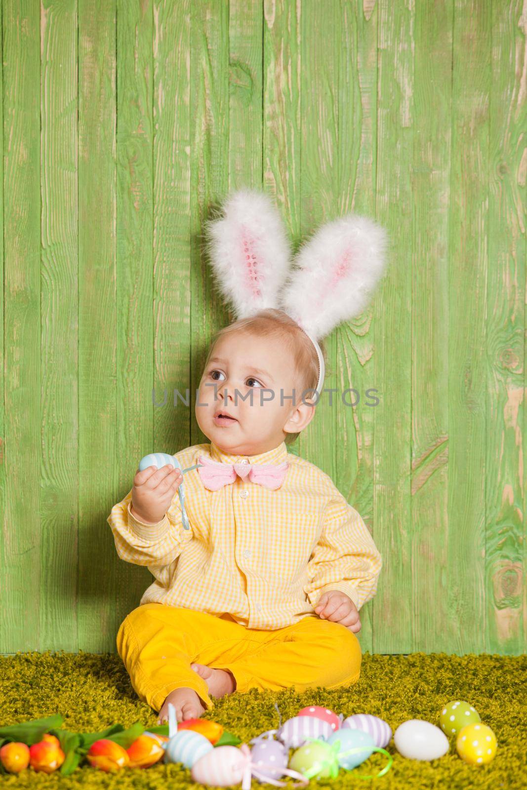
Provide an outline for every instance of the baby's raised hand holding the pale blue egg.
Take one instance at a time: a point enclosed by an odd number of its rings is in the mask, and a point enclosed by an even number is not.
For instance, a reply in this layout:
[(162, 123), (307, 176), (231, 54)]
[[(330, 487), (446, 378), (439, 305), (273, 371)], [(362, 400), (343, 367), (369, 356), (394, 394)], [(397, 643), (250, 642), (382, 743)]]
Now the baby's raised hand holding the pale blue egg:
[(147, 466), (137, 470), (132, 488), (132, 512), (139, 521), (157, 524), (171, 506), (172, 498), (183, 483), (181, 469), (170, 464), (157, 469)]

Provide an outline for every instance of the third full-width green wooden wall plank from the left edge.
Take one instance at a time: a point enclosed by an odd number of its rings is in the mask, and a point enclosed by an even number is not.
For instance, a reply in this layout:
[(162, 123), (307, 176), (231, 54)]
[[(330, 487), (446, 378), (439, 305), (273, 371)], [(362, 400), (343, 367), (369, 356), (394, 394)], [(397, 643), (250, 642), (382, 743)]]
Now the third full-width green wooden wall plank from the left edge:
[[(119, 628), (119, 564), (107, 513), (119, 498), (115, 2), (79, 0), (78, 649), (103, 653)], [(96, 166), (94, 167), (94, 162)], [(96, 229), (96, 232), (95, 232)], [(115, 547), (114, 547), (115, 548)]]

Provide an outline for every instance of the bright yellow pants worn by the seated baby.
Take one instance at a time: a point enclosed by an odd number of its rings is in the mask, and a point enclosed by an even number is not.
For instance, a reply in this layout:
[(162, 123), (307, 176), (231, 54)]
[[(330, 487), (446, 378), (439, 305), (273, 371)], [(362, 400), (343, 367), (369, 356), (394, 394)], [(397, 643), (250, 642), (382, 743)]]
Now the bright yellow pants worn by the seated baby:
[(207, 683), (190, 664), (228, 669), (235, 691), (250, 688), (303, 691), (356, 683), (362, 653), (348, 627), (308, 615), (276, 630), (240, 626), (230, 615), (143, 604), (122, 621), (119, 656), (142, 702), (159, 712), (176, 688), (194, 689), (213, 708)]

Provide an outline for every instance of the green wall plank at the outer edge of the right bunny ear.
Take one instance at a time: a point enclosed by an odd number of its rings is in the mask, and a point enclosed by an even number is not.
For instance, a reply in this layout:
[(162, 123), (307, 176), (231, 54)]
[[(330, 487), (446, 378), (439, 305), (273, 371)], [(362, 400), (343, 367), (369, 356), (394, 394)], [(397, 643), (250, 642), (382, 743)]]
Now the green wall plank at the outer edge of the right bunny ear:
[[(383, 581), (375, 596), (375, 653), (410, 653), (412, 638), (412, 161), (415, 7), (378, 4), (376, 206), (390, 265), (375, 297), (375, 543)], [(382, 547), (382, 548), (381, 548)], [(394, 592), (397, 590), (397, 593)], [(397, 645), (397, 646), (396, 646)]]

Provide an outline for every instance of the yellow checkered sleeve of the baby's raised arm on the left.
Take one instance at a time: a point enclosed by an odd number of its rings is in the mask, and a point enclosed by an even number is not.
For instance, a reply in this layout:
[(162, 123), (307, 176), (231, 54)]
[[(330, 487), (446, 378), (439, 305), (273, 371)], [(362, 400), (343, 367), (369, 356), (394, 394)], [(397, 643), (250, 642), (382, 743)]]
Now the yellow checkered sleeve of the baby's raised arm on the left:
[(192, 530), (183, 529), (178, 495), (161, 521), (152, 525), (144, 524), (130, 513), (131, 499), (132, 491), (129, 491), (107, 517), (119, 557), (134, 565), (159, 565), (160, 562), (170, 565), (192, 538)]

